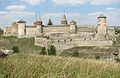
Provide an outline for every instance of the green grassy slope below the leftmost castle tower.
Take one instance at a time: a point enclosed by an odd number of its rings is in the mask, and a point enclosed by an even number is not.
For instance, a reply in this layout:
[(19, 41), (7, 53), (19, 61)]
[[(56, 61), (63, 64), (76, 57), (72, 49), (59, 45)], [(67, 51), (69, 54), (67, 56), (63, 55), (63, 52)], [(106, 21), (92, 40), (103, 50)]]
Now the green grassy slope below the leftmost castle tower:
[(18, 46), (19, 51), (22, 53), (35, 53), (38, 52), (41, 47), (34, 46), (34, 38), (16, 38), (13, 36), (9, 37), (0, 37), (0, 46), (1, 48), (12, 49), (13, 46)]

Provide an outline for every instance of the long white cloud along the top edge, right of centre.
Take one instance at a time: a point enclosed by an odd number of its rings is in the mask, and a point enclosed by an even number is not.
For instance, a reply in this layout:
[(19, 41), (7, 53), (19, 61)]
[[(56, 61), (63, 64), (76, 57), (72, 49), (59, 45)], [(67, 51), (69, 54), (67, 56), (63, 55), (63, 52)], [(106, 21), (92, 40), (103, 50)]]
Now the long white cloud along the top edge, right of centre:
[(109, 5), (113, 3), (120, 3), (120, 0), (52, 0), (54, 5), (71, 5), (71, 6), (78, 6), (81, 4), (92, 4), (92, 5)]

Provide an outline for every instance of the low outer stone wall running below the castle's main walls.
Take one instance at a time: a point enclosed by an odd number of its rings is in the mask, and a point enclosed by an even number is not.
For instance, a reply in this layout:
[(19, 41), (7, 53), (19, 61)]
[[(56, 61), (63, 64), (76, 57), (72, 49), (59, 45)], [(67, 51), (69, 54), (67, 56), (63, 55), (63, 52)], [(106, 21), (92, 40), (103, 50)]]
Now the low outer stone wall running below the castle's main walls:
[(73, 39), (73, 40), (49, 40), (46, 38), (35, 38), (35, 45), (38, 46), (49, 46), (54, 45), (58, 51), (73, 48), (76, 46), (110, 46), (113, 44), (113, 41), (96, 41), (96, 40), (79, 40), (79, 39)]

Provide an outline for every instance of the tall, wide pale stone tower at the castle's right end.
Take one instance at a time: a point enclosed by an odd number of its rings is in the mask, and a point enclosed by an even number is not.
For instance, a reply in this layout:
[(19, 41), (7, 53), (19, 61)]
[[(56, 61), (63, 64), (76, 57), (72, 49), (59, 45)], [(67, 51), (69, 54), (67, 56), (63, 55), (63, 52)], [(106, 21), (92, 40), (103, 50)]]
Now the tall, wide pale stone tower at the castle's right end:
[(107, 27), (107, 23), (106, 23), (106, 16), (104, 16), (103, 14), (101, 14), (98, 17), (98, 34), (106, 34), (106, 27)]

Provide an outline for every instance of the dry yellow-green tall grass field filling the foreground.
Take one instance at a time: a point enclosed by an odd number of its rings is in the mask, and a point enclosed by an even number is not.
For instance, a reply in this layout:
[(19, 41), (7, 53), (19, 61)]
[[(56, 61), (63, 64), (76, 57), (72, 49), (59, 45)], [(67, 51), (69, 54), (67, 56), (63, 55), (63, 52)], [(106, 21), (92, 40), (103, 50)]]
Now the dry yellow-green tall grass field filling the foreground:
[(0, 58), (0, 78), (120, 78), (120, 64), (77, 58), (13, 54)]

